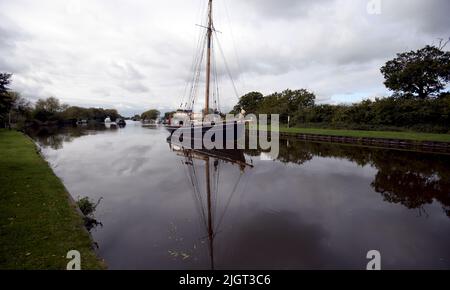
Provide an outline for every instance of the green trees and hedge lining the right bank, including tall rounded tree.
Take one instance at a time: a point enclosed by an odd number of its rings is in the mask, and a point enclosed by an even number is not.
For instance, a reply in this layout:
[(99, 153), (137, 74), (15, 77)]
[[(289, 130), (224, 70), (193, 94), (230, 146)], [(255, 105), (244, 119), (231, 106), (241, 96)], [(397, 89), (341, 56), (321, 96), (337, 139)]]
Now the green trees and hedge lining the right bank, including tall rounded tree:
[(242, 96), (231, 113), (279, 114), (280, 121), (298, 127), (358, 130), (414, 130), (450, 132), (450, 52), (426, 46), (398, 54), (381, 73), (393, 92), (389, 97), (355, 104), (317, 104), (305, 89), (287, 89), (267, 96)]

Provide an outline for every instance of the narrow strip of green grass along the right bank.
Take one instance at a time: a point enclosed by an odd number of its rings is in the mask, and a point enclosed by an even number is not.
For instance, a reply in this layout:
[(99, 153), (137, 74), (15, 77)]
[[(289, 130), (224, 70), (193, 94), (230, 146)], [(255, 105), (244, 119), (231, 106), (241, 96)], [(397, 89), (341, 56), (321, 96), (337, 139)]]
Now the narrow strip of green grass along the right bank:
[(390, 131), (359, 131), (359, 130), (335, 130), (315, 128), (287, 128), (281, 127), (280, 132), (292, 134), (316, 134), (326, 136), (356, 137), (356, 138), (384, 138), (402, 139), (413, 141), (450, 142), (450, 134), (430, 134), (416, 132), (390, 132)]

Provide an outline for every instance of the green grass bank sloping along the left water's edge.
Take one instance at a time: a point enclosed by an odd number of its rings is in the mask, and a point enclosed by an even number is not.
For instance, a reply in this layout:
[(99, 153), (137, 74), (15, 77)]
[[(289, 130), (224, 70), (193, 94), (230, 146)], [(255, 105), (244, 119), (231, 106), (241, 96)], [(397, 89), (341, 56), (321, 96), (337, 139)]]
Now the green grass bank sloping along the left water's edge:
[(25, 135), (0, 130), (0, 269), (104, 269), (69, 194)]

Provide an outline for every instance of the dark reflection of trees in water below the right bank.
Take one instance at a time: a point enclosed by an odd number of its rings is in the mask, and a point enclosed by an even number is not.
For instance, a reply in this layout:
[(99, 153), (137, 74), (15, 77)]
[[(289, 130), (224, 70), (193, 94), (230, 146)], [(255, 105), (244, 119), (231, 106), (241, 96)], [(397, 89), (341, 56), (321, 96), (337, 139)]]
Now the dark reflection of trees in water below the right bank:
[(283, 163), (301, 165), (320, 156), (349, 160), (361, 167), (370, 165), (378, 170), (371, 186), (385, 201), (422, 213), (424, 205), (437, 200), (450, 217), (449, 155), (293, 140), (281, 142), (278, 160)]

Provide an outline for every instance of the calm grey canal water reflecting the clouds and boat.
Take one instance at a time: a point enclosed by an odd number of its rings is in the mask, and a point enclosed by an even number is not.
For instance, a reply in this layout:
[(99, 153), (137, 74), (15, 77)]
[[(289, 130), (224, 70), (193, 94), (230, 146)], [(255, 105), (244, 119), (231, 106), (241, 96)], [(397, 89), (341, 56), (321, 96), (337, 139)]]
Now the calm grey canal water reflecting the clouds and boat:
[(369, 250), (450, 269), (449, 155), (282, 140), (251, 167), (138, 123), (31, 135), (75, 199), (102, 198), (91, 232), (112, 269), (365, 269)]

